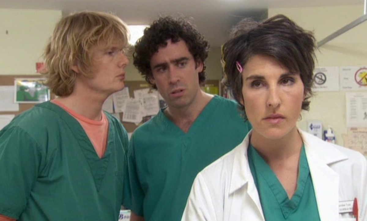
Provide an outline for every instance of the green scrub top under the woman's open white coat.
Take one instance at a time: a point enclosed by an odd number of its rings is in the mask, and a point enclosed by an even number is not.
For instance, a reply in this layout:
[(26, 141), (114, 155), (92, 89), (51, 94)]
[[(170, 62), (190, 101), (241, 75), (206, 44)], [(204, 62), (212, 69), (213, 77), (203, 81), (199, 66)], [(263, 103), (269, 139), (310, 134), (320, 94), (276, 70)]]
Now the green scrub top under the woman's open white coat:
[(297, 189), (291, 199), (288, 198), (273, 170), (251, 144), (247, 152), (266, 221), (305, 220), (305, 217), (306, 220), (320, 220), (303, 145), (299, 157)]

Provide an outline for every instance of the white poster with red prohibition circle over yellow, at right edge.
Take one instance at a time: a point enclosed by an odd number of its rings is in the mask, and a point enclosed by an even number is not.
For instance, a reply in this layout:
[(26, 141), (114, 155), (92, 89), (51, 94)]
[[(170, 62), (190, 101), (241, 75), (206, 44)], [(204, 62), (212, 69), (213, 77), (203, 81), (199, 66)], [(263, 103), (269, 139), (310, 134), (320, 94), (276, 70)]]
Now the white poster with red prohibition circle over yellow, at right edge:
[(340, 90), (367, 90), (367, 66), (340, 67)]

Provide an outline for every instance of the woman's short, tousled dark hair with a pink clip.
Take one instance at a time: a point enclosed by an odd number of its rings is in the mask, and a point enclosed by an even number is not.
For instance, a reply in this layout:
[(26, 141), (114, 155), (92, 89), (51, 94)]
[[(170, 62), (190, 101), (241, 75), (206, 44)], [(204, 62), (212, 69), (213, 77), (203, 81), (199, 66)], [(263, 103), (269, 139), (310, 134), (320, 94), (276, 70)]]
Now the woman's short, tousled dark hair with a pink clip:
[[(254, 55), (268, 55), (291, 72), (300, 74), (305, 88), (302, 109), (309, 110), (308, 99), (313, 95), (315, 49), (313, 33), (302, 29), (284, 15), (273, 16), (264, 22), (243, 19), (233, 27), (229, 40), (222, 48), (225, 85), (232, 90), (233, 96), (240, 103), (243, 99), (243, 79), (236, 68), (236, 62), (244, 66)], [(244, 106), (241, 105), (241, 108)]]

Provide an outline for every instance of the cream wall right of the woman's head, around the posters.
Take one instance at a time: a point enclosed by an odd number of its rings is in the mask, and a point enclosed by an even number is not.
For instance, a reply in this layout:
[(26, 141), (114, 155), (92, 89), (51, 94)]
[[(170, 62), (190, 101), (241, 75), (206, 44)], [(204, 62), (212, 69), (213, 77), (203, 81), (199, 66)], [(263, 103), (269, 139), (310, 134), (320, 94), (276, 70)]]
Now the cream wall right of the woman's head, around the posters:
[[(363, 5), (317, 8), (270, 8), (269, 17), (284, 14), (302, 26), (313, 30), (317, 41), (363, 15)], [(367, 66), (367, 22), (350, 29), (319, 48), (317, 66)], [(338, 77), (338, 76), (335, 76)], [(367, 90), (365, 91), (367, 92)], [(311, 99), (310, 111), (302, 113), (299, 127), (306, 130), (307, 120), (318, 119), (323, 127), (330, 125), (336, 143), (343, 145), (346, 133), (346, 107), (344, 91), (318, 92)]]

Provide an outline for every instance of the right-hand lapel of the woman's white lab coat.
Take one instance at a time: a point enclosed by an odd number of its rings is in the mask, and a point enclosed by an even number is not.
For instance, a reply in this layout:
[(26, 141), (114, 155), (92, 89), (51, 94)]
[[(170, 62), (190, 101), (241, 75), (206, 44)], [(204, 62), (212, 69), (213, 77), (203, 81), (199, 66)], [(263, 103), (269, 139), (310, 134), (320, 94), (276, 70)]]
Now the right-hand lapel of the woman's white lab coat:
[(342, 153), (331, 150), (330, 144), (302, 132), (320, 220), (335, 221), (339, 214), (339, 175), (328, 166), (345, 159)]

